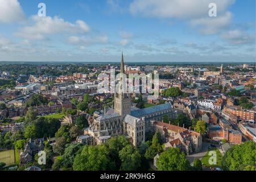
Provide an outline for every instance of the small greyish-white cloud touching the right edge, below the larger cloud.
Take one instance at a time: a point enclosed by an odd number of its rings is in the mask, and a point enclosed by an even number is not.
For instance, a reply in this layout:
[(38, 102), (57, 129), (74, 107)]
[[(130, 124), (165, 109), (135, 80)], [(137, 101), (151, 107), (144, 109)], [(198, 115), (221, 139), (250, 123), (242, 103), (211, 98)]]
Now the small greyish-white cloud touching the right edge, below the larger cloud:
[(234, 45), (255, 43), (255, 34), (250, 35), (240, 29), (224, 32), (220, 35), (220, 37)]

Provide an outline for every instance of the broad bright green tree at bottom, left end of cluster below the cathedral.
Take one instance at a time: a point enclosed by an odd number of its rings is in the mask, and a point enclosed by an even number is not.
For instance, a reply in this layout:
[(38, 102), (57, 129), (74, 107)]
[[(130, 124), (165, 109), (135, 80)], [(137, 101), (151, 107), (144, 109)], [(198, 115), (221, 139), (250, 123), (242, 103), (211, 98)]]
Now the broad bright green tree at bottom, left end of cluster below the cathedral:
[(73, 163), (75, 171), (106, 171), (109, 159), (105, 145), (83, 146), (77, 152)]

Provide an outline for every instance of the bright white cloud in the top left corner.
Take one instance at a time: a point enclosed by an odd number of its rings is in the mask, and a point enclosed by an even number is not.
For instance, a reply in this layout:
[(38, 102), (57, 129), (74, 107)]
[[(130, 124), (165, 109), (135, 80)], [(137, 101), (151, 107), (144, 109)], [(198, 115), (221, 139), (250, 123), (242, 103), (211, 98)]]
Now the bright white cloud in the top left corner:
[(18, 0), (0, 0), (0, 23), (12, 23), (23, 20), (25, 15)]

